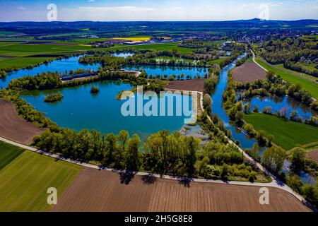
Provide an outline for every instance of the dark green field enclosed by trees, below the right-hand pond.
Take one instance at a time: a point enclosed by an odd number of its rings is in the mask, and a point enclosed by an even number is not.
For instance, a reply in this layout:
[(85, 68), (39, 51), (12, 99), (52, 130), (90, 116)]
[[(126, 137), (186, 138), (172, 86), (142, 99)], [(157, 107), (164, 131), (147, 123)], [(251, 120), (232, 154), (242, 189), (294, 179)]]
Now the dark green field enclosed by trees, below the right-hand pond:
[(318, 127), (284, 121), (276, 116), (263, 113), (245, 114), (244, 119), (257, 131), (262, 130), (268, 135), (272, 134), (273, 143), (280, 145), (285, 150), (318, 141)]

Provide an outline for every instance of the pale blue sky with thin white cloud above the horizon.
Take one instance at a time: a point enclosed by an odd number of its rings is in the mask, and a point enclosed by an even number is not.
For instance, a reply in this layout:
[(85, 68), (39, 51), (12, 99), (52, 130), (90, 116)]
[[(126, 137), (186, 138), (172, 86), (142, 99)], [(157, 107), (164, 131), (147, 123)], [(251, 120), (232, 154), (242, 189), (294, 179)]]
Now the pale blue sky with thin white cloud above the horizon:
[(318, 0), (0, 0), (2, 22), (220, 21), (251, 18), (318, 19)]

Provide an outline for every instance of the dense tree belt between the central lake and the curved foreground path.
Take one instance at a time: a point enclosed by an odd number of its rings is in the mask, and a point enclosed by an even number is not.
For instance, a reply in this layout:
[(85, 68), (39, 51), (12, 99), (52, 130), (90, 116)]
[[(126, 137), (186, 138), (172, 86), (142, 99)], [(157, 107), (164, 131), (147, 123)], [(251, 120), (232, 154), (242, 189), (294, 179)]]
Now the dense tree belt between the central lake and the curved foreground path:
[(127, 131), (114, 135), (61, 129), (37, 136), (34, 145), (49, 153), (83, 162), (93, 160), (117, 169), (208, 179), (268, 180), (235, 146), (208, 142), (200, 149), (197, 138), (179, 132), (154, 133), (141, 146), (139, 136), (129, 137)]

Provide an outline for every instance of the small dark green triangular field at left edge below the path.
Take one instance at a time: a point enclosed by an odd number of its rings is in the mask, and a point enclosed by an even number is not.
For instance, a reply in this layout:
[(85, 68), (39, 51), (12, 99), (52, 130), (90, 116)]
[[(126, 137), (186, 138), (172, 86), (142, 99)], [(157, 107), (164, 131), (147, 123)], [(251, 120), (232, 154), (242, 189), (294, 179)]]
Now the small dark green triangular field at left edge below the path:
[(4, 142), (0, 142), (0, 170), (10, 162), (12, 162), (16, 157), (23, 153), (23, 149), (16, 148)]

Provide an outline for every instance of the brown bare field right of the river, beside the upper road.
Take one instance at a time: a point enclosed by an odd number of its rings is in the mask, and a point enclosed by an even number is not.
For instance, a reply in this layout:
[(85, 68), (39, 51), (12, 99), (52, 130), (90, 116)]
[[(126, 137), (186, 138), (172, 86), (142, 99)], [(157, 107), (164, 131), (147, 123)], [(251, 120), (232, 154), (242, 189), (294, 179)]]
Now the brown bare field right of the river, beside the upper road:
[(266, 80), (266, 71), (253, 62), (245, 62), (233, 70), (233, 76), (235, 81), (247, 83), (257, 79)]

